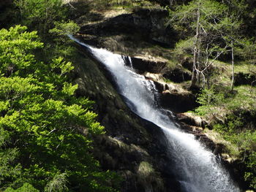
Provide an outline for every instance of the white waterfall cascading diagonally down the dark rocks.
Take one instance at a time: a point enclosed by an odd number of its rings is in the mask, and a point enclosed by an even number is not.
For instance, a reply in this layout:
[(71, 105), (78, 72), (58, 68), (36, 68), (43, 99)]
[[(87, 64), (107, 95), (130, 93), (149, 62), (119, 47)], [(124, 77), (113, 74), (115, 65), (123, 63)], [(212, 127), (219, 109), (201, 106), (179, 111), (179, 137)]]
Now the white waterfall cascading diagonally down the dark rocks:
[[(167, 115), (157, 107), (155, 100), (156, 89), (151, 80), (146, 80), (125, 66), (121, 55), (108, 50), (97, 49), (79, 42), (89, 48), (91, 53), (113, 74), (118, 85), (118, 91), (125, 96), (128, 106), (141, 118), (155, 123), (164, 131), (168, 149), (172, 155), (178, 181), (184, 192), (238, 192), (239, 188), (233, 183), (229, 173), (217, 162), (214, 154), (198, 142), (192, 134), (181, 131)], [(130, 61), (130, 59), (129, 59)]]

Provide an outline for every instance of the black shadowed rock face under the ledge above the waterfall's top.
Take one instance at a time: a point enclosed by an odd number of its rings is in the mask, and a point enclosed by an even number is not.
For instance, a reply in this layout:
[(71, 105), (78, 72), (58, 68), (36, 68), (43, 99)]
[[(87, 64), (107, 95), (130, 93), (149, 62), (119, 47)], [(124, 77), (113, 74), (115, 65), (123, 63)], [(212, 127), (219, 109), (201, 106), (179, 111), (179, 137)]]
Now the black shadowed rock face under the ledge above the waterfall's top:
[(168, 44), (171, 38), (163, 27), (165, 23), (162, 20), (167, 15), (165, 9), (136, 9), (133, 13), (121, 14), (99, 23), (86, 24), (80, 28), (80, 31), (82, 34), (91, 34), (99, 38), (119, 34), (136, 37), (139, 35), (141, 40)]

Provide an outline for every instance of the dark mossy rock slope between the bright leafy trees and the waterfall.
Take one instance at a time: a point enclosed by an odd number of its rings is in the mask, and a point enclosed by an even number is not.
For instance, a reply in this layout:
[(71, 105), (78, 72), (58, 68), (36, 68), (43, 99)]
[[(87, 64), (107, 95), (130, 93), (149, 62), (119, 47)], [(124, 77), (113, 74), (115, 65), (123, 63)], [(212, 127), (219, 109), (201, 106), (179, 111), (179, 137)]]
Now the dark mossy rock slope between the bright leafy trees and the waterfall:
[(121, 191), (178, 191), (161, 129), (127, 108), (97, 62), (83, 51), (77, 58), (77, 94), (95, 101), (98, 120), (105, 126), (106, 134), (94, 138), (93, 151), (103, 169), (124, 177)]

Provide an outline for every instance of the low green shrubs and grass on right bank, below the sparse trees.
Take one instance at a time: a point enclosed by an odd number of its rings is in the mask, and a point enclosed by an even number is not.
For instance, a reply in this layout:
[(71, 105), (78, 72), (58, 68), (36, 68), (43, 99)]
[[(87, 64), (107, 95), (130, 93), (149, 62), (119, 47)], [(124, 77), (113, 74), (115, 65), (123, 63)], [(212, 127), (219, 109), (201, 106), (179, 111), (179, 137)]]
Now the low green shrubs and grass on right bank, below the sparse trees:
[[(230, 142), (227, 152), (240, 158), (246, 164), (244, 178), (251, 188), (256, 186), (256, 131), (255, 126), (255, 89), (249, 86), (236, 87), (238, 93), (233, 95), (217, 86), (204, 89), (198, 96), (195, 111), (211, 120), (214, 130)], [(211, 118), (210, 118), (211, 117)], [(213, 118), (214, 117), (214, 118)]]

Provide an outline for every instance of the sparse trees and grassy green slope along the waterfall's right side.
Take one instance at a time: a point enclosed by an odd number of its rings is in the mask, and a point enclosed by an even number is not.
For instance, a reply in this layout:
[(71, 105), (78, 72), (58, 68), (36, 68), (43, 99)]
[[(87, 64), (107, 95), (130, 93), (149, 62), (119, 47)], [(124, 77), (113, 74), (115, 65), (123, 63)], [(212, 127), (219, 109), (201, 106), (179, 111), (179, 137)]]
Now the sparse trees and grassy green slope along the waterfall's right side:
[[(246, 164), (244, 179), (255, 189), (255, 2), (172, 3), (176, 6), (170, 10), (170, 23), (175, 23), (180, 39), (174, 52), (181, 58), (188, 54), (192, 61), (190, 89), (200, 89), (200, 107), (195, 113), (231, 143), (227, 153)], [(244, 74), (247, 85), (239, 80), (234, 85), (234, 76), (239, 74)]]

